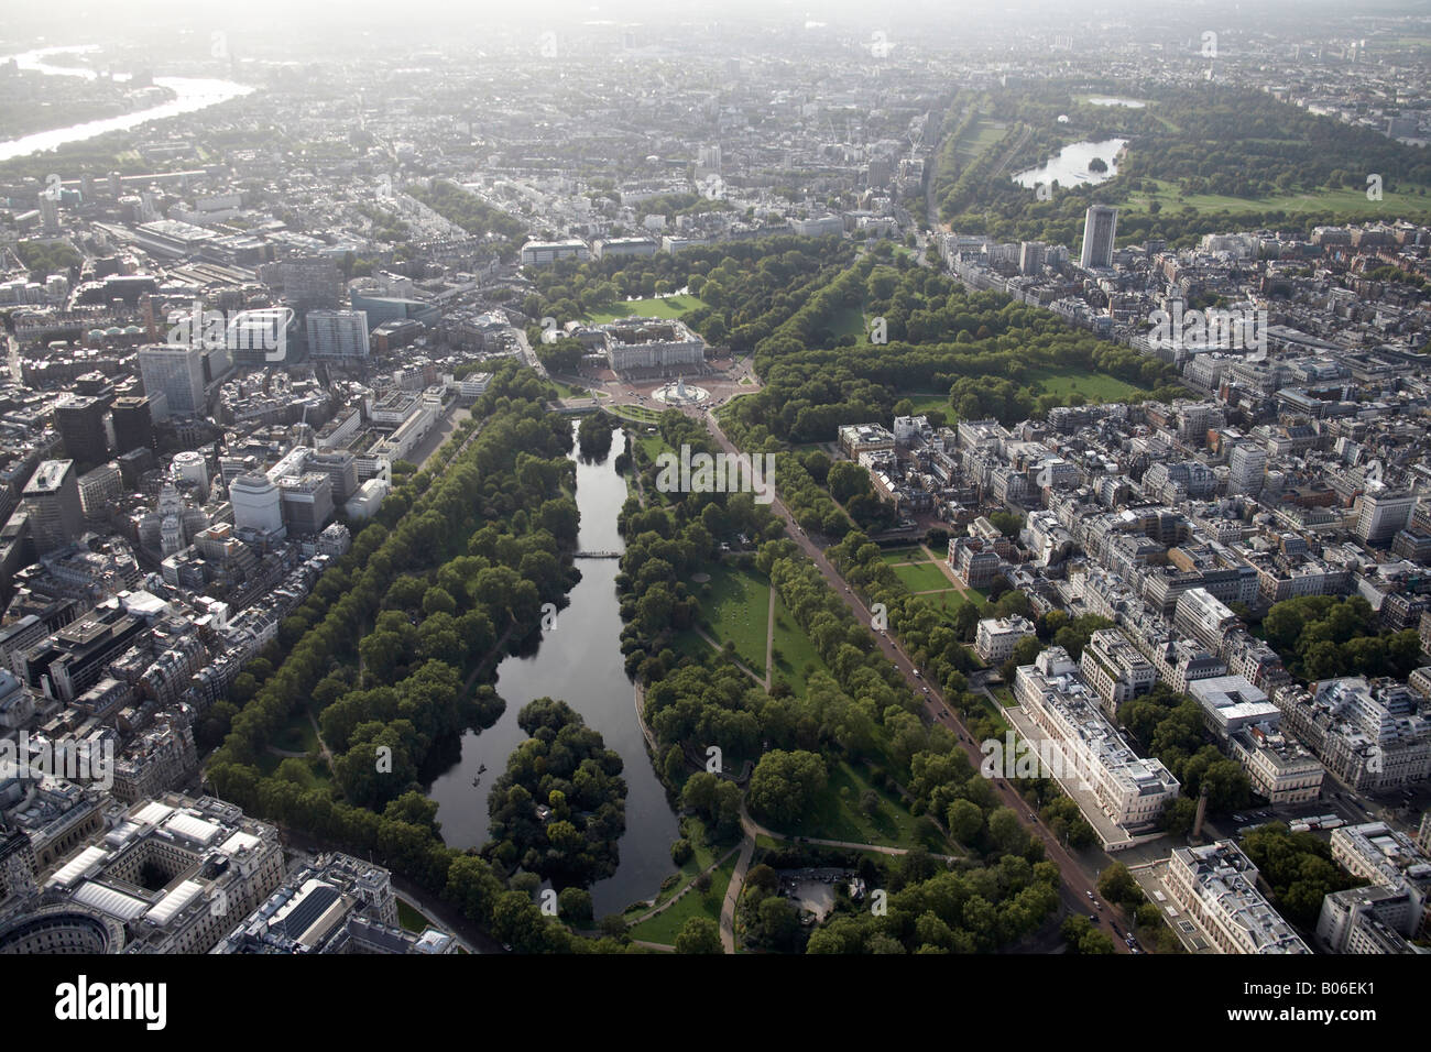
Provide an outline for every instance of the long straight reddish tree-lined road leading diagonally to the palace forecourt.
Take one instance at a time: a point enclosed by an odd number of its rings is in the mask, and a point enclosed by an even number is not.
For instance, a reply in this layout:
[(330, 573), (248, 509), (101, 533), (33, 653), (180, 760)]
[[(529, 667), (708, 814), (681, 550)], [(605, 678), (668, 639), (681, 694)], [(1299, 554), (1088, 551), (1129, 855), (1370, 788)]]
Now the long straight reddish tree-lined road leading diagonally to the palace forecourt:
[[(740, 449), (736, 448), (726, 432), (721, 431), (720, 424), (716, 418), (701, 409), (687, 411), (688, 415), (700, 418), (705, 424), (705, 429), (710, 432), (711, 438), (728, 454), (738, 454)], [(829, 585), (834, 590), (836, 595), (844, 600), (844, 604), (854, 613), (856, 620), (861, 624), (870, 624), (870, 611), (860, 601), (860, 597), (846, 585), (844, 578), (840, 577), (839, 571), (826, 558), (824, 551), (810, 540), (810, 537), (796, 524), (790, 514), (790, 510), (784, 505), (778, 495), (770, 502), (771, 511), (780, 515), (786, 522), (786, 532), (796, 542), (796, 547), (811, 561), (820, 574), (826, 578)], [(959, 719), (957, 710), (954, 710), (940, 693), (937, 684), (927, 684), (923, 674), (917, 673), (913, 661), (900, 650), (899, 644), (894, 643), (884, 633), (874, 635), (880, 651), (889, 661), (899, 668), (904, 681), (909, 684), (910, 690), (924, 698), (924, 711), (932, 723), (943, 723), (946, 727), (953, 727), (959, 733), (960, 747), (969, 756), (969, 761), (979, 767), (983, 761), (983, 753), (979, 751), (973, 737), (969, 734), (969, 729)], [(1120, 953), (1128, 953), (1128, 948), (1123, 940), (1115, 937), (1110, 929), (1110, 919), (1120, 920), (1119, 929), (1123, 932), (1130, 930), (1128, 917), (1120, 915), (1112, 903), (1103, 903), (1102, 910), (1093, 910), (1092, 897), (1098, 896), (1098, 875), (1090, 873), (1083, 863), (1075, 859), (1058, 837), (1055, 837), (1037, 819), (1030, 819), (1030, 810), (1027, 802), (1019, 796), (1015, 787), (1007, 779), (995, 777), (990, 779), (990, 784), (995, 794), (999, 797), (999, 803), (1013, 809), (1013, 813), (1019, 817), (1019, 822), (1029, 830), (1030, 834), (1036, 836), (1043, 842), (1043, 850), (1049, 862), (1059, 867), (1059, 876), (1062, 877), (1062, 887), (1059, 890), (1059, 900), (1072, 913), (1082, 913), (1085, 916), (1096, 913), (1099, 930), (1109, 935), (1113, 939), (1113, 949)], [(738, 887), (736, 880), (731, 880), (733, 887)], [(721, 936), (724, 937), (724, 925)]]

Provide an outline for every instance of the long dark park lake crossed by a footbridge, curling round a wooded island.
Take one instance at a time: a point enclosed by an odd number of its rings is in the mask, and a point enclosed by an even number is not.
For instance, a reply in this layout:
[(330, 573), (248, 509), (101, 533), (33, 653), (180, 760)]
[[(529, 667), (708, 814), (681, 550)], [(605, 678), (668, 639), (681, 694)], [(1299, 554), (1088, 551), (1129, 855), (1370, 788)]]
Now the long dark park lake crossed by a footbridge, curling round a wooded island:
[[(615, 458), (625, 449), (625, 434), (612, 435), (611, 452), (600, 464), (577, 461), (577, 507), (581, 551), (624, 551), (617, 515), (627, 498), (625, 479)], [(601, 731), (607, 747), (617, 750), (627, 781), (625, 833), (614, 876), (591, 887), (595, 916), (620, 913), (633, 902), (651, 899), (661, 879), (673, 872), (671, 842), (680, 836), (665, 790), (651, 769), (637, 723), (634, 687), (621, 657), (621, 611), (615, 577), (618, 560), (577, 560), (581, 583), (571, 590), (571, 605), (557, 615), (557, 625), (542, 633), (541, 646), (528, 657), (508, 657), (497, 666), (497, 693), (507, 701), (501, 719), (478, 733), (462, 736), (462, 759), (438, 776), (428, 796), (438, 803), (442, 839), (452, 847), (478, 847), (487, 842), (487, 794), (507, 770), (507, 757), (527, 736), (517, 713), (532, 698), (565, 700), (587, 726)], [(478, 767), (487, 764), (477, 787)]]

